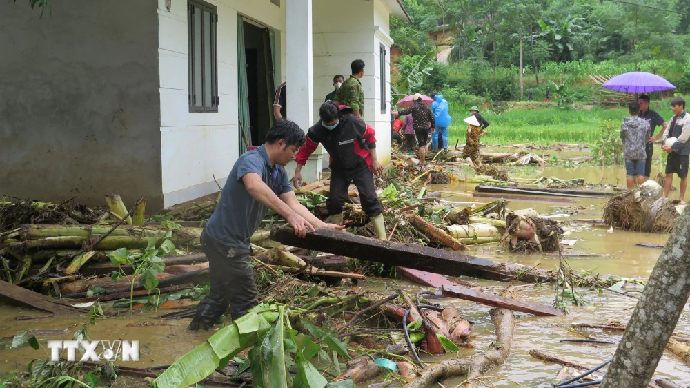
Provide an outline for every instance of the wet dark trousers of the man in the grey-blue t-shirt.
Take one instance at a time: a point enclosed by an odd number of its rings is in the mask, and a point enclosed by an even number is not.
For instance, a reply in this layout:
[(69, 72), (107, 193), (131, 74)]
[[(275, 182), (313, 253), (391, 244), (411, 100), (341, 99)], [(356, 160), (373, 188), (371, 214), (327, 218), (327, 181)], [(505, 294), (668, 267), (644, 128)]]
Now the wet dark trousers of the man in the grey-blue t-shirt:
[[(233, 320), (257, 305), (257, 286), (250, 265), (250, 250), (215, 242), (201, 232), (201, 248), (208, 258), (210, 291), (199, 304), (199, 311), (215, 321), (228, 309)], [(211, 323), (211, 324), (213, 324)]]

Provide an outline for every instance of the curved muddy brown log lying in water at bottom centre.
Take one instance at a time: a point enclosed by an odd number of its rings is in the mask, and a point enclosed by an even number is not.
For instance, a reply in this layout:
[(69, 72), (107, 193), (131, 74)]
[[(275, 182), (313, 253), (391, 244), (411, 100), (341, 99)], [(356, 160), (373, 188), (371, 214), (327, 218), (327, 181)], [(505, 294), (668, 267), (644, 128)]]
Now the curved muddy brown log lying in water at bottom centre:
[[(515, 292), (512, 289), (506, 289), (502, 296), (515, 298)], [(513, 311), (509, 309), (492, 309), (491, 320), (496, 327), (496, 341), (490, 345), (489, 350), (470, 359), (452, 358), (432, 365), (424, 370), (419, 378), (405, 385), (405, 388), (431, 387), (440, 378), (462, 375), (467, 375), (468, 380), (470, 380), (465, 387), (472, 388), (475, 385), (471, 379), (503, 365), (513, 347), (515, 316)]]

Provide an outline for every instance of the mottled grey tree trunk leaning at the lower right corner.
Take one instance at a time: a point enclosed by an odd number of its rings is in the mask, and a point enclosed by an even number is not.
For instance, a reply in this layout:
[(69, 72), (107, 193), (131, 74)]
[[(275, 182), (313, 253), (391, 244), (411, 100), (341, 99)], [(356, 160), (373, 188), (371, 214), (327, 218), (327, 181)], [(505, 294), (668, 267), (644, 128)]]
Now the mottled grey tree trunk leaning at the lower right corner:
[(647, 387), (690, 295), (690, 211), (680, 215), (640, 295), (601, 388)]

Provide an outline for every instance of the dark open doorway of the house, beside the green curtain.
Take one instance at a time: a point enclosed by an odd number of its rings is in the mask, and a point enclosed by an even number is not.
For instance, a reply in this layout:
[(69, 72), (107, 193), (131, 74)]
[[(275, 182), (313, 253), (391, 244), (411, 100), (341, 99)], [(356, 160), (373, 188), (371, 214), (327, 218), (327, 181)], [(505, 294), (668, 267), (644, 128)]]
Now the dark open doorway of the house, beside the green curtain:
[(244, 55), (246, 61), (247, 95), (251, 145), (266, 142), (266, 133), (273, 124), (273, 55), (270, 30), (244, 20)]

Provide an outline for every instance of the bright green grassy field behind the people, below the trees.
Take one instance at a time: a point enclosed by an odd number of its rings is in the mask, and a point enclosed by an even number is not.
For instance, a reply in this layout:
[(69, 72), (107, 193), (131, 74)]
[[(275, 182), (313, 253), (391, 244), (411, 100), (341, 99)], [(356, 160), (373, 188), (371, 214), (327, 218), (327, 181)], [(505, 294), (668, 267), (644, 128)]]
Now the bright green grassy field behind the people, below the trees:
[[(667, 120), (673, 115), (669, 101), (655, 101), (651, 108)], [(463, 119), (469, 116), (469, 108), (451, 102), (450, 111), (453, 124), (449, 130), (449, 144), (452, 147), (457, 139), (460, 139), (460, 144), (465, 142), (467, 126)], [(516, 104), (502, 113), (484, 110), (481, 114), (491, 123), (487, 128), (488, 134), (482, 137), (485, 144), (506, 146), (534, 143), (548, 146), (558, 143), (591, 144), (598, 139), (602, 120), (622, 122), (628, 116), (628, 110), (622, 106), (560, 110), (552, 106), (542, 108), (540, 104)]]

